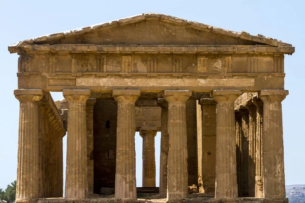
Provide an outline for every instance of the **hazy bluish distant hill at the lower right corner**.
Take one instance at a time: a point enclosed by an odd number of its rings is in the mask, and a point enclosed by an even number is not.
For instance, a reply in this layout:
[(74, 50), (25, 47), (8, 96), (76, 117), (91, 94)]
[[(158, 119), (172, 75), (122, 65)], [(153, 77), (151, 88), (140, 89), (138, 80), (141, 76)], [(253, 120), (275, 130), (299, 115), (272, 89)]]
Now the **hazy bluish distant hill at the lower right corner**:
[(289, 203), (305, 203), (305, 185), (286, 185)]

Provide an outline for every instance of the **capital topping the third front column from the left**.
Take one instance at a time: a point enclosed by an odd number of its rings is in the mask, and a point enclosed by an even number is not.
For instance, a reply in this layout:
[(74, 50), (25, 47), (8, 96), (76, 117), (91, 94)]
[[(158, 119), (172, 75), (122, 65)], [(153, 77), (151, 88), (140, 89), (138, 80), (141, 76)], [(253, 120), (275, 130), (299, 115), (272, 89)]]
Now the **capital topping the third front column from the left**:
[(112, 96), (119, 103), (134, 104), (139, 98), (141, 91), (139, 89), (114, 89)]

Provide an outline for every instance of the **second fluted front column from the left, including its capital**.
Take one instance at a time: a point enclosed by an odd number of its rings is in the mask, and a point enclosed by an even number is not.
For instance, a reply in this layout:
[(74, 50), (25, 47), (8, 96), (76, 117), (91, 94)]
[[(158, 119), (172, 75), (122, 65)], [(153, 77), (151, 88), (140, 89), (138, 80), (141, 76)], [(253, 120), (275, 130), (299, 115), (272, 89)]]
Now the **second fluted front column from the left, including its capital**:
[(90, 90), (63, 90), (68, 100), (67, 170), (65, 198), (86, 198), (87, 181), (87, 129), (86, 100)]

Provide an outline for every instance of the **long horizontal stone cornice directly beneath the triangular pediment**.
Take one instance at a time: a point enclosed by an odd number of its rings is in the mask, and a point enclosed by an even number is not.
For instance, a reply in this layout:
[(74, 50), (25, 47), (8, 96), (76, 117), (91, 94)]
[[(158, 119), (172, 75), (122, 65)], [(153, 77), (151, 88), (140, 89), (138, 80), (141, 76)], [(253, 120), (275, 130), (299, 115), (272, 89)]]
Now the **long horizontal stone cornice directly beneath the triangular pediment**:
[(292, 54), (294, 47), (268, 45), (25, 45), (19, 49), (41, 53), (184, 53), (184, 54)]

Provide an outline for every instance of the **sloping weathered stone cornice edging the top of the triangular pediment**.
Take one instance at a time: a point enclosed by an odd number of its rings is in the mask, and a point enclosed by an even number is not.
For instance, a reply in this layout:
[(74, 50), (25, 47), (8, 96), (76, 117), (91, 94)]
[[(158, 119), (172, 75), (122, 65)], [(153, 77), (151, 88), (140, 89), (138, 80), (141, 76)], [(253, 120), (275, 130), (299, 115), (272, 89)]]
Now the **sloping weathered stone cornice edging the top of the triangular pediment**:
[(248, 32), (241, 31), (241, 32), (236, 32), (236, 31), (230, 31), (227, 29), (222, 29), (219, 27), (211, 26), (211, 25), (206, 25), (203, 23), (199, 22), (194, 22), (194, 21), (188, 21), (185, 19), (169, 16), (169, 15), (163, 15), (163, 14), (157, 14), (157, 13), (145, 13), (145, 14), (140, 14), (140, 15), (135, 15), (127, 18), (121, 18), (118, 20), (113, 20), (105, 23), (100, 23), (100, 24), (95, 24), (91, 26), (85, 26), (77, 29), (72, 29), (69, 31), (64, 31), (64, 32), (57, 32), (57, 33), (52, 33), (49, 35), (44, 35), (41, 37), (33, 38), (33, 39), (27, 39), (23, 40), (21, 42), (12, 44), (9, 46), (9, 51), (10, 53), (17, 53), (18, 47), (22, 47), (24, 45), (29, 45), (29, 44), (44, 44), (47, 41), (50, 40), (60, 40), (60, 39), (65, 39), (68, 37), (72, 36), (77, 36), (81, 35), (87, 32), (91, 32), (93, 30), (99, 29), (99, 28), (109, 28), (109, 27), (116, 27), (119, 25), (125, 25), (125, 24), (130, 24), (130, 23), (135, 23), (139, 21), (144, 21), (144, 20), (161, 20), (177, 25), (182, 25), (182, 26), (187, 26), (191, 27), (194, 29), (198, 30), (203, 30), (211, 33), (216, 33), (219, 35), (235, 38), (235, 39), (243, 39), (243, 40), (249, 40), (253, 42), (258, 42), (258, 43), (263, 43), (266, 45), (270, 46), (276, 46), (276, 47), (292, 47), (291, 44), (283, 43), (282, 41), (278, 41), (272, 38), (266, 38), (262, 35), (257, 35), (257, 36), (252, 36)]

